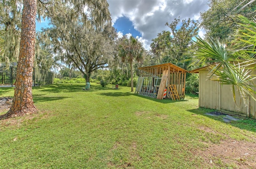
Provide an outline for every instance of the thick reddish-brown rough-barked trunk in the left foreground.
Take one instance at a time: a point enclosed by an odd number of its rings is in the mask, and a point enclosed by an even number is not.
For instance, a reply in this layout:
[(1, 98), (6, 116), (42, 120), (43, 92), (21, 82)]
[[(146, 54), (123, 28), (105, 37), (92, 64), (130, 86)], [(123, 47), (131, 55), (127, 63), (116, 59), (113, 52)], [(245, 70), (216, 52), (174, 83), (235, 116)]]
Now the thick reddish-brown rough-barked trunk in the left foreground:
[(12, 107), (0, 119), (36, 112), (32, 98), (35, 35), (36, 0), (23, 0), (22, 32), (14, 98)]

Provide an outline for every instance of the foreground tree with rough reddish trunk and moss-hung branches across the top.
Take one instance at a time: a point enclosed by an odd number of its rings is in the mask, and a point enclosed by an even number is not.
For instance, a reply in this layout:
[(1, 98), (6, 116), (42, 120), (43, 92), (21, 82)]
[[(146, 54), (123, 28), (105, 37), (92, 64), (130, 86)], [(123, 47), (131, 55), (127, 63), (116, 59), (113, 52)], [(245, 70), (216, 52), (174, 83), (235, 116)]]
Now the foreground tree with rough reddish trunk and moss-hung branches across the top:
[[(10, 1), (15, 4), (18, 1)], [(37, 8), (37, 5), (39, 8)], [(1, 118), (8, 118), (13, 116), (21, 116), (23, 114), (30, 114), (36, 112), (32, 98), (32, 69), (34, 65), (34, 50), (35, 50), (35, 36), (36, 36), (36, 12), (38, 17), (41, 14), (48, 15), (54, 20), (61, 11), (59, 7), (67, 6), (74, 10), (76, 14), (82, 14), (83, 22), (88, 22), (88, 16), (84, 15), (84, 9), (90, 11), (90, 18), (93, 21), (95, 28), (104, 29), (104, 23), (110, 19), (108, 10), (108, 3), (106, 0), (23, 0), (22, 9), (22, 26), (20, 36), (20, 49), (17, 67), (16, 84), (14, 89), (14, 98), (10, 110), (0, 116)], [(41, 11), (41, 9), (44, 9)], [(11, 13), (10, 13), (11, 14)], [(68, 21), (65, 21), (68, 22)], [(63, 22), (63, 25), (65, 23)]]

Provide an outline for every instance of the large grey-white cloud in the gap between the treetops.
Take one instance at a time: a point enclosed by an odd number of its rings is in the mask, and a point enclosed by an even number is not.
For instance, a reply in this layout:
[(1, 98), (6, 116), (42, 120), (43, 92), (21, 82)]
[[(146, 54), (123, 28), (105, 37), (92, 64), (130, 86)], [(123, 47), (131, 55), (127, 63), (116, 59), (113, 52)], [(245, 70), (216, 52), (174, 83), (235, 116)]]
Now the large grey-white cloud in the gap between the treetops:
[[(208, 9), (208, 0), (107, 0), (112, 15), (112, 22), (122, 16), (132, 21), (134, 28), (142, 34), (138, 37), (145, 48), (157, 34), (168, 30), (165, 23), (174, 18), (200, 19), (200, 12)], [(201, 33), (201, 32), (200, 32)], [(203, 35), (201, 33), (200, 35)]]

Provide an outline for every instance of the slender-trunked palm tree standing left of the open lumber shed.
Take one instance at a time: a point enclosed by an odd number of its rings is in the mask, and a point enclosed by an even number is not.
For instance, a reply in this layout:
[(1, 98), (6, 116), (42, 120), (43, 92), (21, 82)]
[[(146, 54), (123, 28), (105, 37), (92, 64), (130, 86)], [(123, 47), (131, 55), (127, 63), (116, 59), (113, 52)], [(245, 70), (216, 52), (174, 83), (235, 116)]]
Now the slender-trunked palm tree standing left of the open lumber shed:
[(133, 92), (133, 61), (137, 62), (142, 61), (143, 59), (144, 48), (142, 47), (142, 43), (130, 36), (130, 38), (123, 37), (120, 45), (119, 45), (119, 56), (122, 59), (122, 62), (128, 61), (130, 64), (131, 70), (131, 92)]

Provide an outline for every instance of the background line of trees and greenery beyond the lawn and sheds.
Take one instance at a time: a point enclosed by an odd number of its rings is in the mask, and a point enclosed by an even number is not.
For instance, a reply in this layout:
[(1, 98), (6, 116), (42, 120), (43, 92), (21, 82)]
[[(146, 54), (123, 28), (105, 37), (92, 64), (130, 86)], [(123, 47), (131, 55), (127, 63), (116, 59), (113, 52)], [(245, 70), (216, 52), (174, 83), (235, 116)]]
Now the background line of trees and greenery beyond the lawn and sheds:
[[(0, 54), (1, 62), (10, 63), (18, 59), (18, 50), (14, 46), (18, 45), (20, 38), (22, 10), (18, 10), (20, 6), (10, 0), (4, 2), (6, 4), (0, 6), (2, 16), (5, 16), (0, 21)], [(237, 7), (238, 4), (241, 8)], [(152, 39), (150, 49), (146, 50), (139, 39), (132, 36), (117, 37), (106, 9), (105, 22), (97, 25), (94, 20), (90, 20), (90, 14), (84, 20), (81, 13), (65, 4), (59, 4), (57, 10), (54, 5), (48, 8), (50, 27), (36, 34), (34, 66), (54, 71), (55, 83), (98, 81), (103, 85), (131, 87), (136, 86), (138, 67), (170, 62), (189, 71), (207, 65), (206, 62), (194, 64), (198, 63), (198, 57), (194, 57), (199, 48), (198, 43), (195, 43), (198, 33), (204, 30), (204, 39), (217, 39), (230, 47), (239, 34), (236, 30), (241, 27), (235, 16), (240, 14), (252, 20), (256, 10), (254, 0), (245, 0), (242, 4), (240, 0), (210, 0), (209, 9), (200, 14), (201, 22), (190, 18), (166, 21), (168, 30), (159, 32)], [(10, 16), (10, 13), (15, 15)], [(14, 31), (5, 25), (8, 17), (12, 19)], [(198, 92), (198, 75), (187, 74), (186, 92)]]

